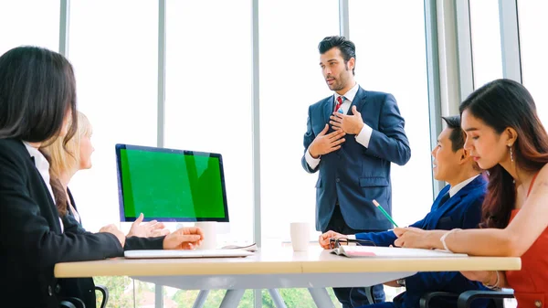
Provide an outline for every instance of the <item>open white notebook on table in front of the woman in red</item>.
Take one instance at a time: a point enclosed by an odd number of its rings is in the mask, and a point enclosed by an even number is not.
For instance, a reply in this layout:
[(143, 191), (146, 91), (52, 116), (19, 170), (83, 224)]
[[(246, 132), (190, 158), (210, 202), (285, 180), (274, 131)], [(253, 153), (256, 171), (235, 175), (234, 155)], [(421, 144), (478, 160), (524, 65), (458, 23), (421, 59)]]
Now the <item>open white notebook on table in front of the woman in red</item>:
[(421, 250), (376, 246), (340, 246), (332, 253), (349, 258), (447, 258), (468, 257), (465, 253), (452, 253), (448, 250)]

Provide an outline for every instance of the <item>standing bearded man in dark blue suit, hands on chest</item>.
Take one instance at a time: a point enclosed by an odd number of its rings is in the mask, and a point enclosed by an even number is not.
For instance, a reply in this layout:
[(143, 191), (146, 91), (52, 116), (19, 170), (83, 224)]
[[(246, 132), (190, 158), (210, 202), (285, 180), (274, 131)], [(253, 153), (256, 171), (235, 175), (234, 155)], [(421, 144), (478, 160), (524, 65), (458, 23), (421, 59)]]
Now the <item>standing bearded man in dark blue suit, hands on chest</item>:
[[(411, 149), (394, 96), (362, 89), (354, 80), (355, 46), (345, 37), (320, 42), (320, 67), (334, 93), (309, 107), (301, 164), (320, 171), (316, 229), (342, 234), (380, 231), (392, 224), (374, 207), (392, 211), (390, 163), (405, 165)], [(363, 288), (334, 288), (343, 308), (366, 303)], [(373, 288), (384, 302), (383, 285)]]

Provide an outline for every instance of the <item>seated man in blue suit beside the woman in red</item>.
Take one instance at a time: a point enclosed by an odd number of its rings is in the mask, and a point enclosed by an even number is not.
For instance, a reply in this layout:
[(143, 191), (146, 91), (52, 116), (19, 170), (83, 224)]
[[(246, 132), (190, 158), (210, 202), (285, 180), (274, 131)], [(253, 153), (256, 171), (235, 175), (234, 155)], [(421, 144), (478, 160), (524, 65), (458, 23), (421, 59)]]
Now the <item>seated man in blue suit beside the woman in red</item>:
[[(437, 195), (430, 213), (411, 227), (423, 229), (477, 228), (481, 218), (481, 204), (487, 190), (487, 181), (478, 165), (463, 148), (465, 135), (460, 129), (460, 117), (443, 118), (448, 127), (439, 134), (434, 157), (434, 177), (449, 183)], [(376, 246), (390, 246), (396, 238), (393, 231), (342, 235), (328, 231), (320, 236), (320, 244), (330, 249), (331, 238), (362, 239)], [(393, 303), (376, 303), (367, 308), (418, 307), (420, 297), (427, 292), (455, 292), (486, 290), (478, 281), (469, 281), (458, 271), (420, 272), (406, 279), (389, 281), (390, 286), (405, 286), (406, 292), (395, 297)], [(485, 307), (487, 302), (475, 301), (473, 307)], [(457, 299), (440, 299), (431, 307), (457, 307)]]

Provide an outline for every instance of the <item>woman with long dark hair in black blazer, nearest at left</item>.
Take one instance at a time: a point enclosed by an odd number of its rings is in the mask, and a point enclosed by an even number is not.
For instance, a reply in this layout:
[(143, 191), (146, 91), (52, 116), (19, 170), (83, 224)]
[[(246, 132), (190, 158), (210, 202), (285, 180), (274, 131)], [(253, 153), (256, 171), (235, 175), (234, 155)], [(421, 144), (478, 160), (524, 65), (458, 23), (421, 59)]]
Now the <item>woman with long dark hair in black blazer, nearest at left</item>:
[[(123, 256), (123, 250), (188, 249), (199, 228), (166, 237), (126, 239), (111, 226), (90, 233), (67, 219), (66, 194), (38, 149), (77, 127), (76, 86), (68, 60), (44, 48), (0, 57), (0, 298), (6, 307), (57, 308), (66, 294), (56, 263)], [(90, 304), (94, 306), (95, 303)], [(88, 305), (88, 306), (90, 306)]]

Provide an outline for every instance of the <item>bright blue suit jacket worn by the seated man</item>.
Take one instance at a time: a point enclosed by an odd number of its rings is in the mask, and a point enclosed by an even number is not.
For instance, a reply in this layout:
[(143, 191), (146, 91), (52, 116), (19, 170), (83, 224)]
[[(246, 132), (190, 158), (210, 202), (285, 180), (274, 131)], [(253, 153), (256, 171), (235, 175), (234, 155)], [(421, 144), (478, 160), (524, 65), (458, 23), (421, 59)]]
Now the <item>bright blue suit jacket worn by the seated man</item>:
[[(439, 202), (449, 191), (445, 186), (437, 195), (427, 217), (417, 221), (411, 227), (422, 229), (452, 229), (477, 228), (481, 219), (481, 204), (487, 191), (487, 180), (479, 175), (467, 186), (462, 187), (455, 196), (452, 196), (443, 205)], [(396, 239), (394, 232), (359, 233), (356, 239), (371, 240), (377, 246), (393, 245)], [(486, 290), (478, 281), (469, 281), (458, 271), (419, 272), (406, 278), (406, 292), (395, 299), (396, 307), (418, 307), (420, 297), (427, 292), (465, 292), (468, 290)], [(473, 307), (484, 307), (486, 302), (475, 301)], [(434, 307), (456, 307), (457, 301), (437, 303)], [(375, 307), (372, 305), (372, 307)]]

